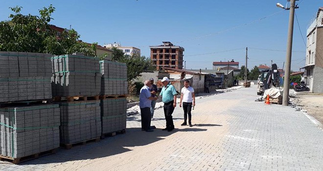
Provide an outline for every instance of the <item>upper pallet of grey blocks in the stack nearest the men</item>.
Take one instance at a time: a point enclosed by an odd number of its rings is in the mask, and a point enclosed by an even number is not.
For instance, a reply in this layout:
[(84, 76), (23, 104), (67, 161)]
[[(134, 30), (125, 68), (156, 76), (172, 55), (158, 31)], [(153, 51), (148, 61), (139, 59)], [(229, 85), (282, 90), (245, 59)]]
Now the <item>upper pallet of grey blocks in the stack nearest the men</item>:
[(128, 89), (127, 65), (112, 61), (100, 61), (102, 81), (101, 95), (126, 95)]

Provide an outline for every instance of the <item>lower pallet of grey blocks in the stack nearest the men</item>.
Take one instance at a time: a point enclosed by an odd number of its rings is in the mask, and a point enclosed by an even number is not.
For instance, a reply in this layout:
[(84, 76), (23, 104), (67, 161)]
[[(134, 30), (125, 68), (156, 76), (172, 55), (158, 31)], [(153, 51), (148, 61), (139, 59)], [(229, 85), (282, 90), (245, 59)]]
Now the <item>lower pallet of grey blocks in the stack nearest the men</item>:
[(101, 100), (102, 136), (115, 135), (115, 132), (125, 132), (127, 121), (126, 98)]

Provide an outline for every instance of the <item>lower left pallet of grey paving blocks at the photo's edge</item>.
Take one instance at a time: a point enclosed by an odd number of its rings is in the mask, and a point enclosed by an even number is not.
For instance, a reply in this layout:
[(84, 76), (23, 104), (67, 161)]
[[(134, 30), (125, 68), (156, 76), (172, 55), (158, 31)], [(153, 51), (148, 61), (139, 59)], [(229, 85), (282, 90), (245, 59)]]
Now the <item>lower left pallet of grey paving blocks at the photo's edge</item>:
[(58, 105), (0, 108), (0, 160), (15, 164), (55, 153), (59, 147)]

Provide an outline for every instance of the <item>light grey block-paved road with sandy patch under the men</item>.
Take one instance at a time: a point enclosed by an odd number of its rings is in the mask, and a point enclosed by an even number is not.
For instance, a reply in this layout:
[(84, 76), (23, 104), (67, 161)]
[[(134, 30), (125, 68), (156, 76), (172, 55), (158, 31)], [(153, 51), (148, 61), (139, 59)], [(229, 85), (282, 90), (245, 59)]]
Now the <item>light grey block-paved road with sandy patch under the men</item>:
[(58, 150), (4, 171), (322, 171), (323, 131), (300, 111), (254, 102), (256, 88), (198, 98), (193, 127), (162, 131), (163, 110), (155, 111), (154, 132), (140, 130), (139, 115), (128, 117), (127, 133)]

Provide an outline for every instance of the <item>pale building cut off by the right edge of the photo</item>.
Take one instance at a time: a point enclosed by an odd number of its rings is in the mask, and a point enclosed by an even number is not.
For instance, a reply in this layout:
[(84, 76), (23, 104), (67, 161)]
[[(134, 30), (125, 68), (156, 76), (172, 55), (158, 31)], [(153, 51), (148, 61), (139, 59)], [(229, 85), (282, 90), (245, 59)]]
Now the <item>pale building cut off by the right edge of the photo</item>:
[(323, 7), (307, 28), (304, 81), (313, 93), (323, 93)]

